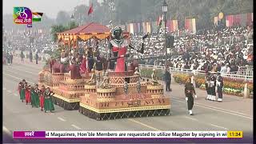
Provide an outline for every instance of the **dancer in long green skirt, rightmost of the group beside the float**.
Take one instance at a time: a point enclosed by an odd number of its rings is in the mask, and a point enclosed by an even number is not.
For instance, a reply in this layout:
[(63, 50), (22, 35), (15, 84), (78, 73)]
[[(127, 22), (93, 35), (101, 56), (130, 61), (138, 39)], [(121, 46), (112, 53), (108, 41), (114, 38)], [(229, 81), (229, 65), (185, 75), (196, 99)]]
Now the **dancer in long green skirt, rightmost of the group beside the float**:
[(50, 91), (50, 87), (47, 87), (47, 89), (44, 92), (44, 98), (45, 98), (45, 102), (44, 102), (44, 108), (45, 108), (45, 113), (47, 110), (50, 110), (50, 112), (52, 112), (52, 110), (54, 110), (54, 103), (52, 101), (52, 95), (54, 93), (52, 91)]

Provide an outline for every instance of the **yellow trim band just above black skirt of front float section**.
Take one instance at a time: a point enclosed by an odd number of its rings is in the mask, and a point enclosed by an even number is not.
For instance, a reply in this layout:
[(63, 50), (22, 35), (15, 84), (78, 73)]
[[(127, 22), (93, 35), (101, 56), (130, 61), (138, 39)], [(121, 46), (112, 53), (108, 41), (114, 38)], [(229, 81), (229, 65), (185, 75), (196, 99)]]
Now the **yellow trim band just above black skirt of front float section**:
[(98, 110), (94, 107), (87, 106), (80, 102), (80, 106), (88, 110), (92, 110), (96, 113), (116, 113), (124, 111), (138, 111), (138, 110), (159, 110), (159, 109), (170, 109), (170, 105), (167, 106), (141, 106), (141, 107), (129, 107), (129, 108), (119, 108), (119, 109), (107, 109), (107, 110)]

